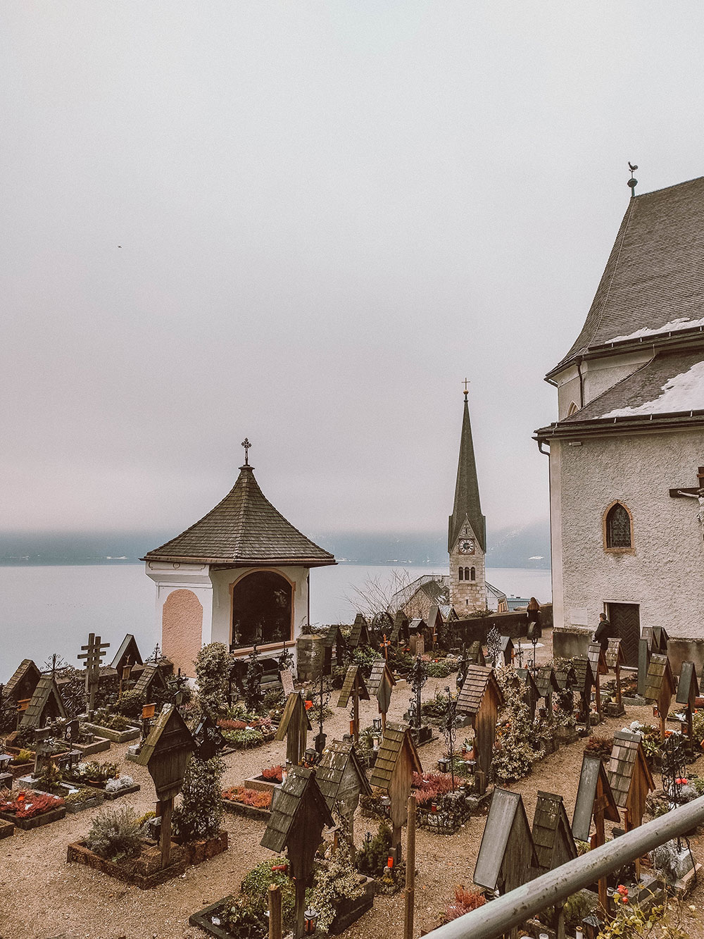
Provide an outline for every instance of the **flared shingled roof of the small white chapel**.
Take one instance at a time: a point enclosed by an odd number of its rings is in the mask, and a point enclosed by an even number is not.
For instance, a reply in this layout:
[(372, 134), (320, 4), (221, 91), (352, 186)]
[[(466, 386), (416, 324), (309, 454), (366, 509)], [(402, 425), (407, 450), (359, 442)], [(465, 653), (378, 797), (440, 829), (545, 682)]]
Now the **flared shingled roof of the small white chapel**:
[(306, 567), (336, 563), (265, 498), (251, 466), (239, 468), (237, 483), (206, 516), (143, 560)]

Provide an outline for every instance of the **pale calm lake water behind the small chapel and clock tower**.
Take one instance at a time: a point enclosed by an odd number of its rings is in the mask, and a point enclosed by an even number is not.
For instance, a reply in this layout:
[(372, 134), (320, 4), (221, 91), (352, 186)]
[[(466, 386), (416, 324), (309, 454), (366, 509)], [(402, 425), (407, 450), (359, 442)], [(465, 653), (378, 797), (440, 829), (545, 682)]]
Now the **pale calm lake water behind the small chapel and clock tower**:
[[(447, 574), (447, 568), (408, 566), (411, 579)], [(311, 622), (351, 623), (355, 610), (347, 599), (370, 579), (390, 582), (394, 568), (338, 564), (311, 571)], [(489, 582), (504, 593), (551, 599), (550, 572), (490, 568)], [(0, 567), (0, 682), (23, 658), (39, 668), (53, 653), (71, 665), (88, 633), (111, 643), (112, 658), (125, 633), (133, 633), (143, 655), (159, 639), (154, 612), (156, 589), (143, 564), (57, 567)]]

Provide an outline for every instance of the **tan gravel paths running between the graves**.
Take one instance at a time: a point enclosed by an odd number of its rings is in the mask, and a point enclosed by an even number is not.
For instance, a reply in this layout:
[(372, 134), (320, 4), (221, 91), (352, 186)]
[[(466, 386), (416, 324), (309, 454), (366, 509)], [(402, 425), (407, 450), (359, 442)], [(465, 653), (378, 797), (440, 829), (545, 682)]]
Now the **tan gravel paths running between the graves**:
[[(540, 658), (550, 655), (549, 642), (539, 650)], [(454, 676), (451, 676), (453, 681)], [(430, 698), (436, 688), (448, 680), (431, 679), (423, 689), (423, 698)], [(394, 692), (390, 719), (401, 719), (406, 710), (409, 691)], [(326, 722), (329, 739), (342, 737), (348, 728), (345, 709), (335, 708)], [(628, 708), (625, 718), (606, 721), (599, 733), (613, 733), (634, 719), (651, 718), (650, 708)], [(360, 702), (361, 719), (371, 723), (375, 711), (372, 702)], [(458, 731), (458, 741), (462, 739)], [(444, 747), (436, 740), (421, 747), (421, 762), (436, 769), (436, 760)], [(559, 751), (535, 765), (532, 774), (512, 787), (523, 795), (532, 820), (536, 792), (559, 792), (564, 797), (568, 816), (572, 817), (583, 741)], [(113, 745), (111, 760), (123, 759), (127, 745)], [(271, 743), (251, 751), (241, 751), (225, 758), (225, 785), (234, 785), (245, 777), (257, 775), (262, 767), (283, 762), (285, 743)], [(107, 759), (100, 754), (98, 759)], [(704, 775), (704, 759), (697, 761), (695, 771)], [(140, 813), (154, 808), (154, 788), (147, 771), (126, 762), (124, 772), (142, 785), (139, 793), (118, 800), (114, 805), (129, 802)], [(659, 777), (655, 779), (660, 784)], [(200, 930), (189, 927), (188, 917), (207, 903), (237, 892), (242, 877), (258, 861), (268, 856), (260, 847), (263, 826), (257, 822), (226, 813), (224, 825), (229, 833), (228, 851), (205, 864), (187, 870), (176, 880), (153, 890), (139, 890), (81, 865), (66, 862), (70, 841), (84, 837), (93, 811), (67, 815), (61, 822), (33, 831), (16, 830), (10, 839), (0, 841), (0, 939), (50, 939), (54, 936), (80, 939), (202, 939)], [(416, 934), (436, 926), (445, 904), (453, 894), (454, 885), (471, 885), (474, 862), (482, 839), (484, 819), (470, 819), (465, 827), (450, 838), (419, 830), (417, 835)], [(367, 829), (367, 820), (358, 817), (358, 842)], [(701, 837), (692, 839), (695, 856), (701, 854)], [(696, 888), (687, 900), (697, 911), (687, 911), (687, 929), (692, 939), (704, 939), (704, 924), (698, 908), (704, 906), (704, 885)], [(348, 939), (376, 939), (379, 935), (401, 936), (403, 932), (403, 895), (378, 897), (374, 908), (352, 926)]]

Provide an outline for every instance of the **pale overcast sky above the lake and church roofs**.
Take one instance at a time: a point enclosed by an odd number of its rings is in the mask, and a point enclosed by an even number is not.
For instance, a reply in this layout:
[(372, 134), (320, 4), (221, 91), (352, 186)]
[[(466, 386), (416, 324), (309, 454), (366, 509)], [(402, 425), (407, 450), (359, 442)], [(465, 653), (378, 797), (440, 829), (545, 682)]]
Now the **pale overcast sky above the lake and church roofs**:
[(4, 0), (0, 528), (545, 517), (545, 372), (704, 173), (701, 4)]

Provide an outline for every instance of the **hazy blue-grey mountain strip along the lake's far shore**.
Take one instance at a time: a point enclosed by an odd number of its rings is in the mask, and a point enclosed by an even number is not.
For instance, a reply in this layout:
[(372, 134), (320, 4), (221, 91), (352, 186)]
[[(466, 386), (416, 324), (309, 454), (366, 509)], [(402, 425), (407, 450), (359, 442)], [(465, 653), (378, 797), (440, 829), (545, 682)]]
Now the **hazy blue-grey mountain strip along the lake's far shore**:
[[(133, 564), (174, 534), (173, 531), (5, 532), (0, 533), (0, 565)], [(550, 529), (546, 521), (489, 530), (487, 536), (490, 567), (549, 569)], [(311, 537), (332, 551), (341, 563), (445, 566), (448, 562), (444, 532), (319, 531)]]

